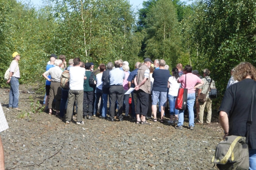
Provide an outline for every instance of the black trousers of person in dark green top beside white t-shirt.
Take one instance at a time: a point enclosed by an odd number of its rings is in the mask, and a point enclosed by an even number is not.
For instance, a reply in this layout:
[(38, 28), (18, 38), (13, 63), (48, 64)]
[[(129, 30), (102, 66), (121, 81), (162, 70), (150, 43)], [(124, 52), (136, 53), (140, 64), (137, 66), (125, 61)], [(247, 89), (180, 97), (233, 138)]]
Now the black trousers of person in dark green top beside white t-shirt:
[(89, 115), (92, 116), (92, 100), (93, 100), (93, 91), (84, 92), (84, 101), (83, 101), (83, 116)]

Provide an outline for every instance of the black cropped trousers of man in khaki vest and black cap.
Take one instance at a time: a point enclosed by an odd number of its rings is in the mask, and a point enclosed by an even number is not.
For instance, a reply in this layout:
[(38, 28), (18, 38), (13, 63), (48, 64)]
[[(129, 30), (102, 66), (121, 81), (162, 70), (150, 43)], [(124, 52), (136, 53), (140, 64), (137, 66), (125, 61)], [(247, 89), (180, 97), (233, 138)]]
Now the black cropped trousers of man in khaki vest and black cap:
[(146, 116), (148, 113), (148, 99), (149, 94), (143, 90), (137, 91), (137, 105), (136, 105), (136, 114), (142, 114)]

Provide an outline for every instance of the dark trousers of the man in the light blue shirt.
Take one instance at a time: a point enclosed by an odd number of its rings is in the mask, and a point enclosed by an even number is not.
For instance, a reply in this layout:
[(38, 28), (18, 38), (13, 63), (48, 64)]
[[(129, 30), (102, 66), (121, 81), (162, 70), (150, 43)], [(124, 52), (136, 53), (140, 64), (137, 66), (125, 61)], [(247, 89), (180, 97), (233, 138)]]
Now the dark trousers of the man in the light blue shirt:
[(124, 87), (119, 86), (110, 86), (109, 88), (110, 96), (110, 119), (114, 119), (115, 116), (115, 104), (117, 100), (118, 104), (118, 117), (119, 119), (123, 118), (123, 100), (124, 100)]

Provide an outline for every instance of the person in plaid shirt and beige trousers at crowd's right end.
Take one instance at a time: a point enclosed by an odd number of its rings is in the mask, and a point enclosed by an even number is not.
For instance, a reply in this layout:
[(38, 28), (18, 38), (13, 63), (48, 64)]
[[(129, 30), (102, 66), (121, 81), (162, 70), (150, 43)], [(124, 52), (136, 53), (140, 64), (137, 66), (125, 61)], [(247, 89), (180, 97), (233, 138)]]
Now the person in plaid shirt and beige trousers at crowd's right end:
[[(210, 78), (210, 70), (205, 68), (204, 69), (204, 78), (202, 79), (204, 81), (204, 84), (200, 87), (198, 87), (198, 96), (200, 93), (206, 94), (207, 89), (209, 87), (209, 84), (211, 82)], [(212, 80), (212, 84), (210, 88), (215, 88), (215, 82)], [(210, 90), (209, 90), (210, 91)], [(211, 118), (212, 118), (212, 100), (209, 98), (209, 92), (206, 94), (206, 102), (199, 102), (199, 114), (198, 114), (198, 123), (196, 124), (203, 124), (203, 119), (204, 119), (204, 107), (206, 106), (207, 109), (207, 119), (206, 123), (210, 124), (211, 123)]]

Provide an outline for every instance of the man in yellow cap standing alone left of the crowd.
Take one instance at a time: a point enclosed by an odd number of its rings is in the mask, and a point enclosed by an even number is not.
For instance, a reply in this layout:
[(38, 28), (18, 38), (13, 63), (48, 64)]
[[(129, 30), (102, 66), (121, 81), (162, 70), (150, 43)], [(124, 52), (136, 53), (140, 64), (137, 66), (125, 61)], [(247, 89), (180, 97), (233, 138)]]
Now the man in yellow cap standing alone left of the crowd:
[(21, 111), (18, 108), (18, 101), (19, 101), (19, 78), (20, 78), (20, 68), (18, 61), (20, 60), (20, 54), (14, 52), (12, 54), (13, 61), (10, 64), (10, 78), (7, 80), (7, 83), (10, 83), (10, 94), (9, 94), (9, 108), (16, 109)]

